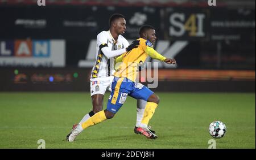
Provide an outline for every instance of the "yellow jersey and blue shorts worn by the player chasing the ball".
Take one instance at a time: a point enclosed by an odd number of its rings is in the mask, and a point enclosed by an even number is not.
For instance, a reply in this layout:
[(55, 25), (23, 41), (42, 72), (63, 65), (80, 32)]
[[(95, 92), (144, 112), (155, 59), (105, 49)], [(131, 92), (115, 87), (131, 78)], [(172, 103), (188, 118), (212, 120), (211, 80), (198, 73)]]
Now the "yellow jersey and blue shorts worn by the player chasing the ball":
[(121, 62), (117, 71), (114, 73), (112, 82), (112, 92), (109, 97), (107, 110), (112, 113), (122, 107), (127, 96), (135, 99), (148, 100), (154, 92), (148, 89), (141, 83), (135, 81), (139, 63), (144, 63), (147, 56), (151, 58), (164, 60), (166, 59), (153, 49), (150, 41), (139, 38), (139, 46), (131, 51), (128, 51), (115, 59), (115, 63)]

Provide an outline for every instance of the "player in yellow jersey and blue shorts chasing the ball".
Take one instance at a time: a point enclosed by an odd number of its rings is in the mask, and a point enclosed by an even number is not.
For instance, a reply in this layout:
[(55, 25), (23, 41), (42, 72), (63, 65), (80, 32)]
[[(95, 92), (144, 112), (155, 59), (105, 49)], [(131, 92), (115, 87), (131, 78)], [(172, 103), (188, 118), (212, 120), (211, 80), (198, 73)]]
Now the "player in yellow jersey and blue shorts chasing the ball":
[(156, 36), (155, 29), (151, 25), (143, 25), (139, 31), (139, 35), (139, 46), (131, 51), (127, 51), (116, 59), (121, 64), (114, 73), (112, 92), (106, 110), (94, 114), (86, 122), (82, 123), (81, 126), (83, 129), (94, 126), (106, 119), (113, 118), (115, 113), (122, 107), (127, 96), (131, 96), (137, 100), (147, 101), (143, 119), (139, 127), (137, 127), (137, 132), (149, 139), (156, 139), (158, 137), (148, 129), (147, 124), (155, 113), (155, 109), (159, 103), (159, 97), (146, 86), (137, 83), (135, 79), (139, 63), (143, 63), (148, 55), (151, 58), (161, 60), (168, 64), (175, 64), (176, 61), (175, 59), (163, 57), (153, 49), (152, 46), (156, 41)]

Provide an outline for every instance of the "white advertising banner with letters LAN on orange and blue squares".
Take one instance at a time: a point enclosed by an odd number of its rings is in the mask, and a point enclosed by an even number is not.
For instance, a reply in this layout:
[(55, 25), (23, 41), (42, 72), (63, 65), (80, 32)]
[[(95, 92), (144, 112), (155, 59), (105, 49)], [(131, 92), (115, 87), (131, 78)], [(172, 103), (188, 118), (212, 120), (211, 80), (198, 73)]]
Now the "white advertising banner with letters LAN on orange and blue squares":
[(0, 40), (0, 67), (65, 67), (65, 40)]

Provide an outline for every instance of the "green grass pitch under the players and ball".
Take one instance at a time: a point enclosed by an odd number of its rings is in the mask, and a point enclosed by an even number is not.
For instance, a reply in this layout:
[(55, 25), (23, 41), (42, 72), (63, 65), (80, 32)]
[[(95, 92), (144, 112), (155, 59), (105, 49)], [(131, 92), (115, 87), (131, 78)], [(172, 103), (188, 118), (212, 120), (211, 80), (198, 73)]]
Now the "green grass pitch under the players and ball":
[[(135, 135), (136, 100), (129, 97), (113, 119), (65, 141), (72, 125), (92, 109), (84, 92), (1, 92), (0, 148), (205, 148), (214, 120), (227, 132), (216, 148), (255, 148), (255, 93), (163, 93), (150, 120), (158, 139)], [(109, 92), (105, 94), (104, 109)]]

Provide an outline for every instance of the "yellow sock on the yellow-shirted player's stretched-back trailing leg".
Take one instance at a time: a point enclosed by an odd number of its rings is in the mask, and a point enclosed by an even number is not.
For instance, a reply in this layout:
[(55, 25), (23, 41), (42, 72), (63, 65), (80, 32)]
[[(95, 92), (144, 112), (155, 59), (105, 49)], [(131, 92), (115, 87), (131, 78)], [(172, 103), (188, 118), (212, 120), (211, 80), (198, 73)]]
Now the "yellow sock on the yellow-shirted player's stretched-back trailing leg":
[(81, 126), (82, 126), (82, 129), (85, 129), (90, 126), (94, 126), (95, 124), (98, 124), (104, 120), (106, 120), (106, 115), (105, 115), (104, 111), (100, 111), (100, 112), (94, 114), (92, 117), (90, 117), (84, 123), (82, 123)]

